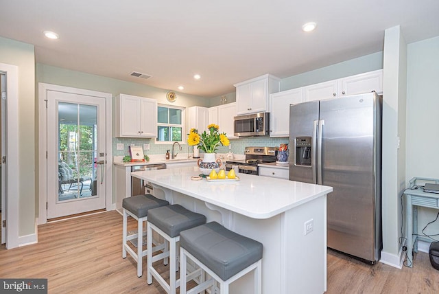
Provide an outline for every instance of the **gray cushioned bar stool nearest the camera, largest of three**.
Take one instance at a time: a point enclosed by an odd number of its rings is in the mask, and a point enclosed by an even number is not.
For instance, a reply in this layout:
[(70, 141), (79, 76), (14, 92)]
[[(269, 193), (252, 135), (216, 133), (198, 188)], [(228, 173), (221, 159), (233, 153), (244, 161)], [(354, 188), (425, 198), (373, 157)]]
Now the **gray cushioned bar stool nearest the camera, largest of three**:
[[(188, 229), (180, 233), (180, 293), (200, 293), (211, 286), (217, 287), (219, 293), (228, 293), (228, 285), (254, 270), (254, 292), (261, 294), (261, 242), (236, 234), (212, 222)], [(200, 282), (189, 291), (186, 283), (192, 280), (187, 273), (187, 258), (208, 273), (211, 278), (204, 281), (204, 273)], [(211, 293), (218, 293), (212, 289)]]

